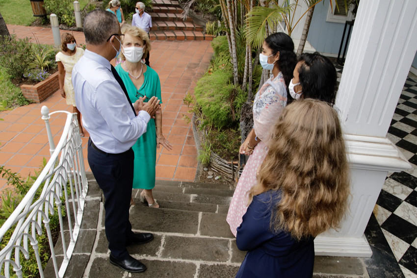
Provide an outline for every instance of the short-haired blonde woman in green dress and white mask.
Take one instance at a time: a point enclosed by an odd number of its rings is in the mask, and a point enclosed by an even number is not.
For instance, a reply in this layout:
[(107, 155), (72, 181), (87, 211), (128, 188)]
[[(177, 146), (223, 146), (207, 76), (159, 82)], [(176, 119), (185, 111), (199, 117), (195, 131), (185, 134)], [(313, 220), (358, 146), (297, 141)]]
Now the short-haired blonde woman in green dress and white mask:
[[(159, 76), (156, 71), (147, 67), (142, 59), (151, 50), (148, 34), (139, 27), (129, 25), (122, 27), (122, 34), (122, 62), (116, 66), (116, 71), (126, 86), (130, 101), (133, 103), (142, 98), (147, 102), (155, 96), (162, 103)], [(162, 110), (159, 107), (155, 119), (149, 121), (146, 132), (132, 147), (133, 188), (144, 189), (140, 193), (140, 201), (147, 202), (150, 207), (159, 207), (152, 189), (155, 187), (156, 149), (160, 146), (172, 149), (172, 145), (162, 135)]]

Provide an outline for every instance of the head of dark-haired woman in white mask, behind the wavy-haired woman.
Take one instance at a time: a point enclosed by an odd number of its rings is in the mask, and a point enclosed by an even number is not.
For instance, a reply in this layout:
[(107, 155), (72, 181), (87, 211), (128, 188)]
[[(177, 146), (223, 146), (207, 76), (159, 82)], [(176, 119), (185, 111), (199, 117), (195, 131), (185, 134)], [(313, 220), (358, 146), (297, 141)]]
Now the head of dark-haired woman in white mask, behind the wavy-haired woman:
[(298, 58), (294, 69), (294, 78), (289, 84), (292, 99), (316, 99), (335, 103), (336, 99), (336, 68), (333, 63), (318, 52), (303, 53)]

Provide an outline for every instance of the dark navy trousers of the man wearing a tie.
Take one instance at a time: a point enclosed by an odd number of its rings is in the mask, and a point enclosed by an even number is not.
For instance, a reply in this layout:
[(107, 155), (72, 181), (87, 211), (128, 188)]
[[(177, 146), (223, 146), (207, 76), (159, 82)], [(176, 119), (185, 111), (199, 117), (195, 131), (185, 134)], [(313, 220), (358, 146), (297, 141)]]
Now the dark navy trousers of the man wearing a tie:
[(104, 193), (105, 235), (108, 249), (118, 259), (129, 256), (126, 245), (132, 237), (129, 221), (130, 198), (133, 183), (132, 149), (112, 154), (100, 152), (88, 141), (88, 163)]

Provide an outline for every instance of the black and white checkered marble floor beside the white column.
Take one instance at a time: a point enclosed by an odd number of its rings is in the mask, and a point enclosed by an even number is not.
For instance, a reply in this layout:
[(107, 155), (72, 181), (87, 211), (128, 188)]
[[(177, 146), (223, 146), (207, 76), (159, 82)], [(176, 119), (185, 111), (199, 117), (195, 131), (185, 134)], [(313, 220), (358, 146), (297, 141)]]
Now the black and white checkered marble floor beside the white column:
[[(343, 68), (336, 68), (340, 76)], [(412, 73), (387, 137), (413, 168), (385, 180), (365, 230), (373, 253), (365, 265), (370, 278), (417, 278), (417, 76)]]

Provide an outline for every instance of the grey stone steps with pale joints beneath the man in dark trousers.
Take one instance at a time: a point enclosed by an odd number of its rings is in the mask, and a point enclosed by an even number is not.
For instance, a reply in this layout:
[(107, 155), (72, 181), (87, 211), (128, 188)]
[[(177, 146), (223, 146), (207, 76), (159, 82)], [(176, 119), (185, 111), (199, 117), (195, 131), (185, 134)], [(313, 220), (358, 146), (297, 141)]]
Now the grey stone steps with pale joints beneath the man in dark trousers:
[[(236, 247), (226, 223), (233, 189), (223, 184), (156, 180), (154, 197), (161, 208), (150, 208), (139, 201), (140, 190), (133, 190), (135, 205), (130, 207), (133, 231), (152, 232), (154, 240), (128, 247), (143, 262), (144, 273), (122, 271), (108, 261), (101, 190), (91, 173), (84, 218), (74, 254), (65, 278), (232, 278), (245, 252)], [(58, 261), (60, 239), (55, 246)], [(52, 261), (45, 277), (54, 277)], [(363, 259), (349, 257), (315, 258), (313, 278), (369, 278)]]

